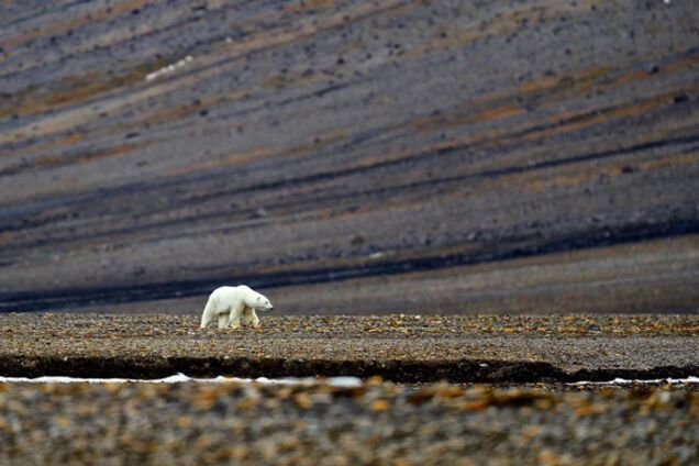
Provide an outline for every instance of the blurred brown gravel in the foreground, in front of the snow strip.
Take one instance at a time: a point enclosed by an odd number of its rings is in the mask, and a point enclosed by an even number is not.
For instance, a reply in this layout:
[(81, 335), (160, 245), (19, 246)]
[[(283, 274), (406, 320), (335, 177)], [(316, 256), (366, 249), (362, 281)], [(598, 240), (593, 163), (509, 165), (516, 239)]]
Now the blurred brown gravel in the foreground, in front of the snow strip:
[(683, 390), (4, 384), (0, 412), (0, 464), (688, 465), (699, 448)]

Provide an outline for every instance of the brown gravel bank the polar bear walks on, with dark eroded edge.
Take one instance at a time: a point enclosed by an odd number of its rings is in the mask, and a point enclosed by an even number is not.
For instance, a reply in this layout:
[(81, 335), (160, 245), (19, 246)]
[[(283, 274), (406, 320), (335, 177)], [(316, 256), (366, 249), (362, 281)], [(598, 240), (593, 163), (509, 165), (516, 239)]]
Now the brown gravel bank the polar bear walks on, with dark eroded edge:
[(535, 382), (699, 374), (699, 315), (276, 317), (3, 314), (0, 375), (380, 375)]

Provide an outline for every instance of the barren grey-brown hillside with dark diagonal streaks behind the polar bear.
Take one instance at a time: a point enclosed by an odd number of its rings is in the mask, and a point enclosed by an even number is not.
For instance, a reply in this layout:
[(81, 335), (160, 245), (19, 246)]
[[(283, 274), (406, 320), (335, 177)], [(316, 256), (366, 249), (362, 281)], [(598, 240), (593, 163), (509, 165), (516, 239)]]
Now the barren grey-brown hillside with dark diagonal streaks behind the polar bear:
[(0, 4), (0, 309), (686, 311), (699, 9)]

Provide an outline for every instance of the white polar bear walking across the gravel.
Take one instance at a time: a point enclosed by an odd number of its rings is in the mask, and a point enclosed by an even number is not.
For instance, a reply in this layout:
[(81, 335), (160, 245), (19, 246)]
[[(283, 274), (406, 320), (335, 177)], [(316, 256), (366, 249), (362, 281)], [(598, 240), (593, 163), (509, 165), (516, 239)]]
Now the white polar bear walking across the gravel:
[(219, 318), (219, 329), (240, 329), (241, 321), (245, 325), (259, 328), (259, 318), (255, 309), (273, 310), (271, 302), (245, 285), (238, 287), (220, 287), (211, 292), (207, 307), (201, 314), (201, 328), (206, 329)]

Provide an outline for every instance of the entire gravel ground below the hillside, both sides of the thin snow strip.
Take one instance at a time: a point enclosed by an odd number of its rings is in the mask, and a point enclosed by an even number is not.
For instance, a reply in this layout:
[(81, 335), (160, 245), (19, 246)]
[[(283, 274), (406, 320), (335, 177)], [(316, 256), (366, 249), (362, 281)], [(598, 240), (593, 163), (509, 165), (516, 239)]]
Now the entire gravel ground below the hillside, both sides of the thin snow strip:
[(696, 464), (696, 384), (572, 381), (699, 374), (697, 315), (264, 315), (263, 325), (0, 315), (4, 376), (373, 376), (353, 387), (0, 384), (0, 463)]

